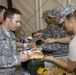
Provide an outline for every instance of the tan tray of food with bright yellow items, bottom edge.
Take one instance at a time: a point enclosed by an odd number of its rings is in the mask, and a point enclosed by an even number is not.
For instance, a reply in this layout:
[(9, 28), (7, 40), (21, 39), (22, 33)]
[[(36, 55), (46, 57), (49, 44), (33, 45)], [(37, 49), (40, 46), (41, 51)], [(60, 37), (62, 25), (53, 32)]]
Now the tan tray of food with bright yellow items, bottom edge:
[(74, 75), (74, 72), (70, 72), (65, 68), (57, 68), (57, 67), (39, 67), (37, 69), (37, 75)]

